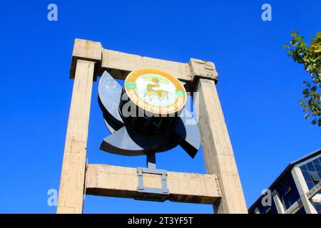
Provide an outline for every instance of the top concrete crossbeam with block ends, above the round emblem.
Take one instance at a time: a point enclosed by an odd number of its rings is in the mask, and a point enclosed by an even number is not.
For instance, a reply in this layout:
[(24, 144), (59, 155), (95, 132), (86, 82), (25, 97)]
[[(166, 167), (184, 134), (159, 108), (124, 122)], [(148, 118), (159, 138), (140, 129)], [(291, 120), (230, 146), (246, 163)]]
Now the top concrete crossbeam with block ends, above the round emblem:
[(93, 77), (94, 81), (96, 81), (96, 76), (101, 75), (103, 71), (111, 73), (113, 78), (124, 80), (128, 73), (139, 68), (159, 68), (167, 71), (178, 78), (178, 80), (184, 81), (188, 91), (193, 90), (193, 86), (198, 78), (218, 81), (218, 73), (215, 65), (209, 61), (190, 58), (189, 63), (180, 63), (159, 58), (138, 56), (103, 48), (100, 42), (76, 38), (73, 45), (70, 78), (74, 78), (76, 61), (78, 59), (96, 63), (95, 75)]

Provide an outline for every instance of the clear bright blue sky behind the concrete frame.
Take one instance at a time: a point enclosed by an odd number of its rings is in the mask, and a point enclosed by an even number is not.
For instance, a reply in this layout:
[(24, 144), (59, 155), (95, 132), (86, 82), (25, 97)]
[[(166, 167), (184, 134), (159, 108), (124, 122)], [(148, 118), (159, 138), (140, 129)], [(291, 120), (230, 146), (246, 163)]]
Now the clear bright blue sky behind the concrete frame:
[[(58, 5), (58, 21), (47, 6)], [(270, 3), (272, 21), (261, 20)], [(4, 1), (1, 2), (0, 212), (54, 213), (73, 81), (74, 38), (105, 48), (188, 62), (213, 61), (218, 93), (248, 207), (292, 160), (321, 147), (320, 128), (304, 120), (302, 66), (282, 46), (296, 28), (321, 30), (321, 1)], [(93, 85), (88, 159), (137, 167), (144, 157), (96, 150), (108, 134)], [(205, 172), (180, 148), (158, 155), (158, 167)], [(85, 212), (212, 212), (210, 205), (86, 197)]]

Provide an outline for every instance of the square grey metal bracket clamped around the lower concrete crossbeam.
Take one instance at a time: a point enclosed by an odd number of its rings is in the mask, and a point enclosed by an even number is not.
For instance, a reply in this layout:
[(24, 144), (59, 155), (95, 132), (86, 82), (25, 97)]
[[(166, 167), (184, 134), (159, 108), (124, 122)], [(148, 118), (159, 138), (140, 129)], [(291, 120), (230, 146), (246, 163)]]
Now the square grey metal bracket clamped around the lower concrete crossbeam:
[[(139, 200), (149, 200), (164, 202), (168, 199), (169, 190), (167, 188), (167, 170), (158, 170), (154, 168), (144, 168), (137, 167), (138, 172), (138, 187), (137, 187), (137, 197), (135, 199)], [(154, 175), (161, 175), (162, 188), (157, 187), (144, 187), (143, 185), (143, 173), (150, 173)]]

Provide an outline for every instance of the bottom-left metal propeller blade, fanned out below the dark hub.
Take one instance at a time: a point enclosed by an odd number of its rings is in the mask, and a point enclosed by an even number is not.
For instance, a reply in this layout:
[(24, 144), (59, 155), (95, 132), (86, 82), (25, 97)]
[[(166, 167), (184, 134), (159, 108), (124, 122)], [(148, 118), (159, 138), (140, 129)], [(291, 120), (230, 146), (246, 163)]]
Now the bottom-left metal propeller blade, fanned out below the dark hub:
[(101, 150), (127, 156), (146, 155), (148, 151), (162, 152), (178, 145), (169, 143), (170, 135), (170, 133), (148, 135), (123, 126), (103, 139)]

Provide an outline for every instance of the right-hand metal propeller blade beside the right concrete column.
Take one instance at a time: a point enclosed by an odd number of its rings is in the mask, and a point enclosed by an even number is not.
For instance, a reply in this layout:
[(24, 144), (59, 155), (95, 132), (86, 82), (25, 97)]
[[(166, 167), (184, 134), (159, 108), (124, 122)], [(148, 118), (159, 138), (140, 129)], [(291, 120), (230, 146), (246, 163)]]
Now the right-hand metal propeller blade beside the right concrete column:
[(200, 148), (198, 124), (188, 110), (184, 109), (175, 123), (174, 132), (180, 138), (180, 146), (194, 158)]

